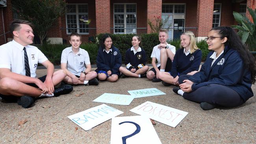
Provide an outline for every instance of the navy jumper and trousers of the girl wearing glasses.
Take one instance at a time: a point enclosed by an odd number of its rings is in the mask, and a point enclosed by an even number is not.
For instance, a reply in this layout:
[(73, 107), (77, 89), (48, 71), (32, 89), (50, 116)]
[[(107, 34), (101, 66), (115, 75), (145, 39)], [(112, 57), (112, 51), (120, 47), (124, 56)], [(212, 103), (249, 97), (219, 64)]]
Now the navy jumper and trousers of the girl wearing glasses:
[(214, 55), (214, 52), (208, 54), (200, 72), (180, 76), (179, 83), (184, 79), (194, 82), (192, 92), (185, 92), (183, 97), (224, 107), (236, 107), (246, 102), (253, 96), (252, 83), (250, 71), (243, 65), (239, 53), (226, 46), (219, 57)]

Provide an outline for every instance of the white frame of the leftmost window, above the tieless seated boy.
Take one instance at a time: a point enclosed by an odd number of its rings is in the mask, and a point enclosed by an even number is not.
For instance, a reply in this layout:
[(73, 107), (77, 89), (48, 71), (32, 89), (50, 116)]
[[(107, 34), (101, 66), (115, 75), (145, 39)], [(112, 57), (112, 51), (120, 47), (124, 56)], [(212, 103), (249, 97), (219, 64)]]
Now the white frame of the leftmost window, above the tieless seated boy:
[[(66, 12), (65, 14), (65, 18), (66, 18), (66, 33), (69, 35), (71, 34), (72, 32), (69, 32), (69, 29), (68, 29), (68, 23), (67, 23), (67, 15), (76, 15), (76, 30), (77, 30), (77, 33), (80, 34), (80, 35), (88, 35), (89, 34), (89, 29), (88, 29), (88, 32), (80, 32), (80, 23), (79, 23), (79, 15), (87, 15), (88, 16), (88, 19), (89, 19), (89, 5), (87, 3), (71, 3), (71, 4), (67, 4), (68, 5), (75, 5), (76, 6), (76, 13), (68, 13)], [(87, 5), (87, 13), (79, 13), (79, 5)], [(89, 28), (89, 24), (85, 24), (85, 27), (86, 25), (88, 26)]]

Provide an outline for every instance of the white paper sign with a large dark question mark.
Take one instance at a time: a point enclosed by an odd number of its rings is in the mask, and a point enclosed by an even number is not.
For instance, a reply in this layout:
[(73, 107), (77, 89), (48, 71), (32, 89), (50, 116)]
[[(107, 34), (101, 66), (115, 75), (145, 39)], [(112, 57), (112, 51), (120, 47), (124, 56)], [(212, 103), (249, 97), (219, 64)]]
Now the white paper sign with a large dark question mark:
[(111, 144), (161, 144), (150, 119), (145, 116), (112, 118)]

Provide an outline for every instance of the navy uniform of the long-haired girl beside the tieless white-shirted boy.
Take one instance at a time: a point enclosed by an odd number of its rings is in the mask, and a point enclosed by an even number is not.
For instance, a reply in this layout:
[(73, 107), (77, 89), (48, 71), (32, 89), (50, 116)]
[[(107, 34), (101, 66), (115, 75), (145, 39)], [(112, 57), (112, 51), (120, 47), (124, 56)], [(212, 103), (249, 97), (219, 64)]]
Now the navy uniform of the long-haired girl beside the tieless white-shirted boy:
[(111, 70), (111, 74), (117, 74), (120, 76), (119, 68), (122, 65), (122, 55), (115, 46), (113, 46), (108, 52), (100, 47), (96, 63), (97, 69), (95, 71), (97, 73), (105, 73), (108, 76), (107, 72)]

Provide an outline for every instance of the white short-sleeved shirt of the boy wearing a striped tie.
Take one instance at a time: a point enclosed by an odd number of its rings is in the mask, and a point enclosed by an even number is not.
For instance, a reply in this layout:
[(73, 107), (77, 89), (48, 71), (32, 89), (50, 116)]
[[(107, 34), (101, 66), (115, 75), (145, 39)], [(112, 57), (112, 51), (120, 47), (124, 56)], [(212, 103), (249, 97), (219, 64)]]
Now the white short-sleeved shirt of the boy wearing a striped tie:
[(37, 64), (43, 63), (48, 59), (37, 47), (30, 45), (22, 46), (14, 40), (0, 46), (0, 68), (9, 68), (11, 72), (26, 76), (24, 47), (26, 47), (28, 55), (31, 77), (35, 78)]

